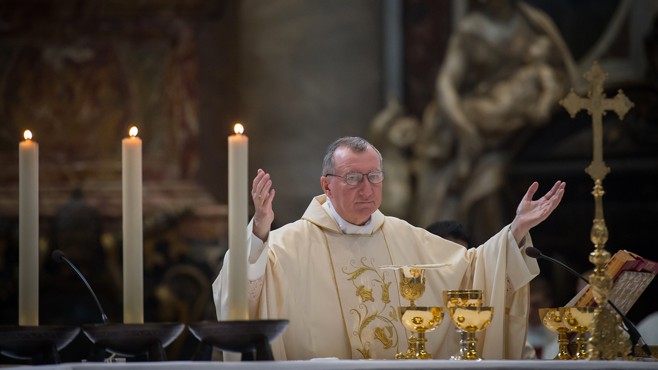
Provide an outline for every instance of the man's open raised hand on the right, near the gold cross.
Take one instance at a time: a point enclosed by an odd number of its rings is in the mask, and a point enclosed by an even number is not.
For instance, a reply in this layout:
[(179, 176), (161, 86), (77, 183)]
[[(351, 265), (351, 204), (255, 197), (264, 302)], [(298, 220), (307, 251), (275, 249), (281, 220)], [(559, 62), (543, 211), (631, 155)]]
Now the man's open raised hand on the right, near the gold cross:
[(565, 194), (566, 182), (555, 182), (553, 188), (546, 193), (545, 196), (537, 200), (532, 200), (539, 184), (533, 182), (528, 188), (528, 192), (521, 199), (519, 207), (517, 207), (517, 217), (512, 221), (512, 235), (517, 241), (521, 242), (525, 234), (530, 231), (530, 228), (539, 225), (548, 217), (553, 209), (560, 203), (562, 196)]

